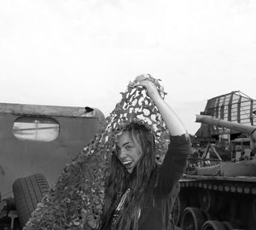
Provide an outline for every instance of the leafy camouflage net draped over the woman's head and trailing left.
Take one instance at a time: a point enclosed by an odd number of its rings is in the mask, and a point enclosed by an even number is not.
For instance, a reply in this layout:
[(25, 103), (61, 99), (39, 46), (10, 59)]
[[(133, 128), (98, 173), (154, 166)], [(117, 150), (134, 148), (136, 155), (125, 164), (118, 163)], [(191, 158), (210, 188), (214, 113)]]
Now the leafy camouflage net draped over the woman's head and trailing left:
[[(166, 95), (159, 80), (149, 76), (162, 98)], [(169, 134), (146, 89), (129, 83), (122, 99), (110, 113), (104, 128), (84, 147), (79, 156), (64, 168), (55, 186), (33, 211), (26, 223), (32, 229), (90, 229), (87, 222), (100, 218), (104, 199), (104, 182), (115, 148), (116, 135), (126, 124), (136, 122), (150, 129), (156, 141), (156, 152), (164, 158)]]

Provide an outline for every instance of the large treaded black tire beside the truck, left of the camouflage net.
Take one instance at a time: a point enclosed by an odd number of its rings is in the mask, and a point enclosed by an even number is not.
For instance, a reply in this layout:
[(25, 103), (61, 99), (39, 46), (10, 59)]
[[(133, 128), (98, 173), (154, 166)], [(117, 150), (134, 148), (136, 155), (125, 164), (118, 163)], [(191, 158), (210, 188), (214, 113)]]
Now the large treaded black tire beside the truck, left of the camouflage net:
[(49, 184), (42, 174), (30, 175), (18, 178), (13, 184), (15, 206), (22, 227), (31, 217), (32, 211), (37, 204), (48, 193)]

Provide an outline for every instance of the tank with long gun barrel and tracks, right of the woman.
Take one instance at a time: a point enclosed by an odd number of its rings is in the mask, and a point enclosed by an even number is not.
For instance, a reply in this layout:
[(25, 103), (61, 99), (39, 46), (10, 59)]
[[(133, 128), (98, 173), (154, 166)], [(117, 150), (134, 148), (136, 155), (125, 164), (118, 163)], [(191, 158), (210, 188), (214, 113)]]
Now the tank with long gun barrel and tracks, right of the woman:
[(256, 126), (207, 115), (197, 115), (196, 122), (242, 137), (230, 140), (224, 134), (228, 145), (222, 153), (230, 158), (220, 154), (216, 143), (222, 140), (211, 138), (204, 151), (189, 158), (173, 210), (175, 224), (183, 230), (256, 229)]

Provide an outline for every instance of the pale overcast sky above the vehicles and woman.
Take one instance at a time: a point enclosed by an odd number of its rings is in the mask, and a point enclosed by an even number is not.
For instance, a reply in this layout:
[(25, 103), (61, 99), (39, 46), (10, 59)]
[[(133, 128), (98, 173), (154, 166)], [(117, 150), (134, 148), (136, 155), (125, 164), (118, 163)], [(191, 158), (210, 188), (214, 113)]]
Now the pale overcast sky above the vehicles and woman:
[(150, 73), (195, 134), (208, 99), (256, 99), (255, 25), (253, 0), (0, 0), (0, 102), (107, 117)]

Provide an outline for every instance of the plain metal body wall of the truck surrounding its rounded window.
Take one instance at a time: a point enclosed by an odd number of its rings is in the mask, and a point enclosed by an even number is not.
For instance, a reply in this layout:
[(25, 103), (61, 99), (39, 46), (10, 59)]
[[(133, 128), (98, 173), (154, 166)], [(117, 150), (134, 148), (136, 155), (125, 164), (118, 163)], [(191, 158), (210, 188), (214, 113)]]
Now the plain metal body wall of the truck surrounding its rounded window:
[[(27, 141), (15, 137), (13, 126), (20, 116), (53, 118), (60, 126), (54, 141)], [(18, 177), (42, 173), (53, 185), (65, 164), (70, 163), (96, 134), (104, 116), (94, 109), (86, 114), (83, 107), (35, 106), (0, 103), (0, 192), (12, 196)]]

